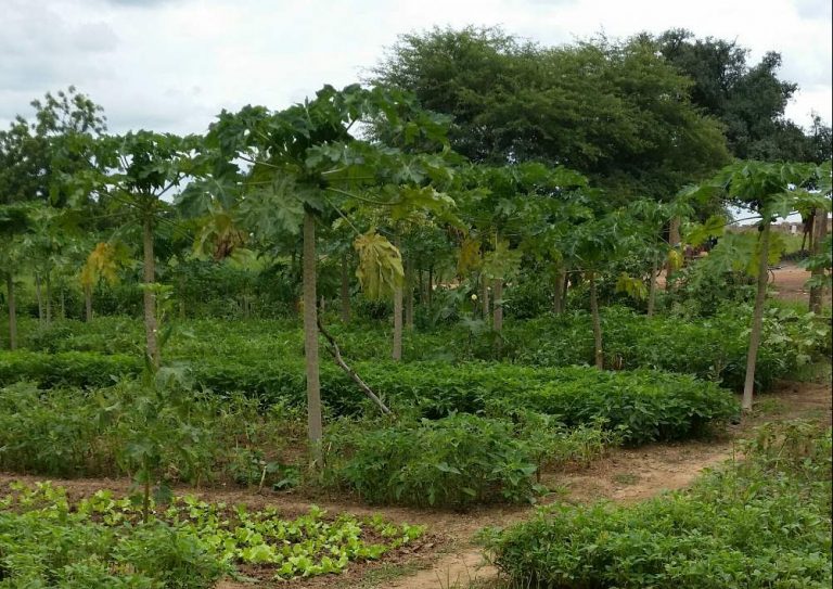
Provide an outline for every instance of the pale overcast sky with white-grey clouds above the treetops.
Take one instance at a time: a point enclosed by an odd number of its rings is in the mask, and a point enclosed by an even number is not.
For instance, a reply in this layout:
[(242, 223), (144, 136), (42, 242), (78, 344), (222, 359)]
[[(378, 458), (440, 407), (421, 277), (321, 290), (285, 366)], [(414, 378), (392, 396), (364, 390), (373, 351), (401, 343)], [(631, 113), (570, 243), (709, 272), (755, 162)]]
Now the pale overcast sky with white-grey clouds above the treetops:
[(111, 131), (202, 132), (222, 108), (358, 80), (398, 35), (501, 25), (543, 44), (684, 27), (783, 55), (787, 116), (830, 123), (830, 0), (0, 0), (0, 126), (75, 85)]

